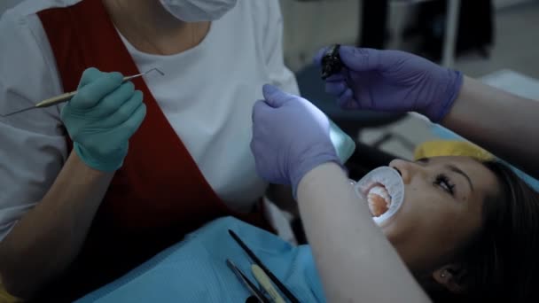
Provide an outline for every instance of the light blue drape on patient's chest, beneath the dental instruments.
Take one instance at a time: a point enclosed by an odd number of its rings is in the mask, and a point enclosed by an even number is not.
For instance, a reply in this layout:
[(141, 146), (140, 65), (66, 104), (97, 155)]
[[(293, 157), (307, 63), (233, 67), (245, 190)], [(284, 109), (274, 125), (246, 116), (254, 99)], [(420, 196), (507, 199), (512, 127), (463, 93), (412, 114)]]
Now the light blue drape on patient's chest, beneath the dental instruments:
[(251, 260), (230, 237), (234, 230), (301, 302), (325, 302), (309, 246), (226, 217), (212, 221), (112, 284), (77, 300), (98, 302), (245, 302), (250, 293), (227, 267), (232, 260), (256, 284)]

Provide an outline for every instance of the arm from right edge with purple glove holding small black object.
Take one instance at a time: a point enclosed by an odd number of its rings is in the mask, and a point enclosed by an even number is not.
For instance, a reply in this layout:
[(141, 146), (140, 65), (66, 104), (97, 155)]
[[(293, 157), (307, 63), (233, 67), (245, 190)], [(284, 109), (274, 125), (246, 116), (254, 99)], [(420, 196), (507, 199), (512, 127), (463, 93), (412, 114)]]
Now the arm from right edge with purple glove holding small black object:
[(403, 51), (342, 46), (340, 58), (345, 67), (326, 80), (326, 91), (341, 106), (424, 114), (539, 177), (538, 102)]

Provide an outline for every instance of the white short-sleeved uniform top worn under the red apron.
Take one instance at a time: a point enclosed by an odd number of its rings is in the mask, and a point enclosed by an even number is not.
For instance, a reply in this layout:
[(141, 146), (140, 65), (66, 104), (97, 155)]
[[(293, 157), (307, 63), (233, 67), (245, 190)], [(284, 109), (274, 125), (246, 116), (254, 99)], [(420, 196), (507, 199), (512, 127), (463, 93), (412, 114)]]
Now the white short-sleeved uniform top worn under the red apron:
[[(36, 12), (78, 1), (27, 0), (4, 13), (0, 114), (63, 92)], [(282, 23), (277, 0), (240, 0), (212, 22), (198, 46), (183, 53), (149, 55), (123, 39), (140, 71), (159, 67), (166, 74), (145, 76), (149, 89), (208, 183), (237, 210), (253, 206), (267, 187), (249, 149), (251, 111), (262, 97), (262, 84), (298, 93), (283, 62)], [(59, 111), (51, 107), (0, 118), (0, 240), (43, 198), (66, 161)]]

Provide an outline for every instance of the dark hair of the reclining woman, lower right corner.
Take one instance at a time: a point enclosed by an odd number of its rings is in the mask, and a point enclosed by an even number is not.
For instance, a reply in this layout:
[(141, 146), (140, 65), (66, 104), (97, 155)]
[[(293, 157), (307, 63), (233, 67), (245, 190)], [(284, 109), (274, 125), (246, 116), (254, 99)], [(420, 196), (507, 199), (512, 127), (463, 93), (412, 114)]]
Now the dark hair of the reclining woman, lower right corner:
[(434, 302), (539, 301), (539, 194), (497, 161), (483, 162), (499, 190), (485, 199), (479, 233), (459, 253), (465, 291), (429, 290)]

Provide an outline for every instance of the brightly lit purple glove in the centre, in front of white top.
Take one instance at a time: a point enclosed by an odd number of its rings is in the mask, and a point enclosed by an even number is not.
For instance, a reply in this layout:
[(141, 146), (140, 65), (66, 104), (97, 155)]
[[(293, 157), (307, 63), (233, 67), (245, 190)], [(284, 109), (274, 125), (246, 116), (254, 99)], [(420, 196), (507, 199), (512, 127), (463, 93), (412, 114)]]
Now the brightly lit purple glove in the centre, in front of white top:
[(295, 190), (311, 169), (326, 163), (340, 165), (330, 139), (330, 121), (308, 100), (264, 85), (265, 100), (253, 108), (256, 170), (269, 183), (291, 184)]

